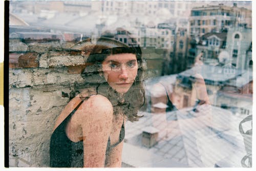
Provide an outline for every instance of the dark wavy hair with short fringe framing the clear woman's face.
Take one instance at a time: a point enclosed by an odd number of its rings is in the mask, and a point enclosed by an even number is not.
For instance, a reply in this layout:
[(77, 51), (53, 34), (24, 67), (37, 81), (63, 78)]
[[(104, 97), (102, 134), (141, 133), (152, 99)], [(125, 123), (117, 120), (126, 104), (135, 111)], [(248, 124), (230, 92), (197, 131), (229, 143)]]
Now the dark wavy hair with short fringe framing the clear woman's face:
[[(135, 54), (138, 61), (138, 72), (135, 81), (129, 91), (126, 92), (122, 98), (120, 98), (120, 94), (113, 90), (109, 86), (108, 82), (106, 82), (106, 80), (100, 76), (102, 73), (102, 61), (111, 54), (121, 53)], [(96, 44), (93, 46), (90, 55), (86, 59), (89, 66), (87, 66), (83, 72), (83, 78), (88, 79), (93, 77), (90, 80), (90, 84), (94, 84), (94, 86), (96, 86), (97, 94), (101, 94), (110, 100), (113, 105), (114, 114), (122, 112), (130, 121), (136, 121), (139, 117), (141, 117), (138, 115), (138, 111), (146, 104), (142, 78), (143, 68), (141, 55), (142, 53), (140, 47), (125, 47), (125, 45), (123, 47), (112, 47), (111, 44)]]

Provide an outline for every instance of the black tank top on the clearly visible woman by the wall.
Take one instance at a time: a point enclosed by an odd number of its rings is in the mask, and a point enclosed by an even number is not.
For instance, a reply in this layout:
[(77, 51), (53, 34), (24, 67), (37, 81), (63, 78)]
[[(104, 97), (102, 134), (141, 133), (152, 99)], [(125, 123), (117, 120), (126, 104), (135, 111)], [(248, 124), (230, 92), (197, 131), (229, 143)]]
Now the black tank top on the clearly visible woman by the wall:
[[(66, 126), (72, 115), (76, 112), (81, 101), (76, 108), (63, 120), (54, 130), (50, 140), (50, 166), (51, 167), (83, 167), (83, 141), (73, 142), (66, 135)], [(119, 142), (110, 145), (110, 137), (106, 147), (106, 152), (110, 148), (117, 146), (124, 139), (124, 121), (121, 127)]]

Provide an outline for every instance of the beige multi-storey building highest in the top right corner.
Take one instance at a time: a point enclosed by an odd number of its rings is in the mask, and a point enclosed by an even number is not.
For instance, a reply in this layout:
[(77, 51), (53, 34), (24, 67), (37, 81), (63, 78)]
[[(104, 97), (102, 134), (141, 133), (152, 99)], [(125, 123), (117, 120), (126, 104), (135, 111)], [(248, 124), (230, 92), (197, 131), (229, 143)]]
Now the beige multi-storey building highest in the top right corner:
[(241, 25), (251, 28), (251, 10), (239, 8), (236, 3), (232, 7), (223, 4), (194, 7), (189, 22), (190, 36), (195, 38)]

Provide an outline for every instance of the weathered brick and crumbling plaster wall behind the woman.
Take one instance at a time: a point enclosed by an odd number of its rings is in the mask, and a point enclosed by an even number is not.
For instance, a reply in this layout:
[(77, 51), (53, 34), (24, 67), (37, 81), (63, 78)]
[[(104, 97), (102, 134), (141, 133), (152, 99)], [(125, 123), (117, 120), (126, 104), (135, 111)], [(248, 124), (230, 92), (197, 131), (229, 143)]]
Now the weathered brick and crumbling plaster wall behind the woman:
[[(9, 164), (48, 167), (53, 125), (87, 78), (80, 34), (54, 34), (31, 26), (11, 26), (9, 36)], [(142, 49), (144, 78), (160, 76), (162, 51)]]

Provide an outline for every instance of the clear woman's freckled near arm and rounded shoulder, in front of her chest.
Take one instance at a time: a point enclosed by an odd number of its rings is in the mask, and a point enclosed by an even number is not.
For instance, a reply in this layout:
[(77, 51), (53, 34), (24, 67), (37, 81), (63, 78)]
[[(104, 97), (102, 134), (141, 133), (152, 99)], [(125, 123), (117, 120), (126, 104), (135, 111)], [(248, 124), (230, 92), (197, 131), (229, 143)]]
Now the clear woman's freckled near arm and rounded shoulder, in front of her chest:
[(104, 96), (94, 95), (77, 112), (81, 116), (83, 166), (104, 167), (106, 146), (112, 128), (112, 104)]

